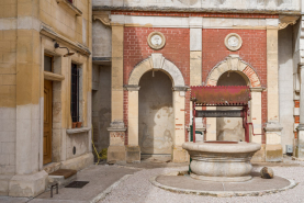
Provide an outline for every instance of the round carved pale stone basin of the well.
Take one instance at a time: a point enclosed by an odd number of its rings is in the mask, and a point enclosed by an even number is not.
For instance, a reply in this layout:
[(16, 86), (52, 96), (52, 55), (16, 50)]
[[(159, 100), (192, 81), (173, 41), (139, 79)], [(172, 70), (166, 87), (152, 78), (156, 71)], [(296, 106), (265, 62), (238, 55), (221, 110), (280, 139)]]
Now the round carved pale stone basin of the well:
[(250, 160), (261, 145), (246, 142), (184, 143), (192, 159), (191, 177), (218, 182), (248, 181), (252, 166)]

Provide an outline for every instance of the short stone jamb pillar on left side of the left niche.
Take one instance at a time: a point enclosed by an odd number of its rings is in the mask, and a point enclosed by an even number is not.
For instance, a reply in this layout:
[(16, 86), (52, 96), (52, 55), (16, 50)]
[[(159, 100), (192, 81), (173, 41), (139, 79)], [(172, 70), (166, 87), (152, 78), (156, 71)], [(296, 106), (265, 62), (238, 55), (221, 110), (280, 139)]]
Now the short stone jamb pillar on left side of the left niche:
[(138, 145), (138, 86), (127, 86), (128, 91), (128, 113), (127, 113), (127, 135), (128, 145), (126, 146), (126, 161), (139, 162), (140, 148)]

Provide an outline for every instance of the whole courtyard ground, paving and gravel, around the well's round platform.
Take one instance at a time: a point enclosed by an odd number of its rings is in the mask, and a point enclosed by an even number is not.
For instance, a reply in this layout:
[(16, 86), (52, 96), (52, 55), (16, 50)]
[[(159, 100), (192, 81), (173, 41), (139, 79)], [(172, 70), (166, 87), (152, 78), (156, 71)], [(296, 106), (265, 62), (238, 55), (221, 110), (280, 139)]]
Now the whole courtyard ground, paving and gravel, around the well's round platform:
[[(27, 198), (0, 198), (2, 203), (87, 203), (87, 202), (109, 202), (109, 203), (154, 203), (154, 202), (296, 202), (301, 203), (304, 200), (304, 162), (291, 160), (290, 157), (284, 157), (283, 163), (254, 163), (252, 172), (259, 172), (262, 166), (271, 167), (274, 176), (279, 176), (289, 180), (293, 180), (296, 185), (293, 189), (273, 193), (259, 193), (250, 196), (229, 196), (223, 193), (219, 196), (202, 195), (202, 194), (182, 194), (177, 192), (166, 191), (150, 183), (150, 178), (169, 173), (173, 171), (188, 170), (185, 163), (173, 163), (159, 160), (142, 161), (137, 165), (111, 165), (103, 162), (98, 166), (90, 166), (87, 169), (78, 172), (78, 180), (90, 181), (82, 189), (60, 188), (59, 194), (54, 192), (54, 198), (50, 196), (50, 191), (35, 196)], [(268, 184), (271, 184), (274, 179), (269, 179)], [(255, 188), (264, 188), (264, 185), (254, 185)], [(275, 185), (272, 185), (275, 188)], [(206, 185), (205, 191), (210, 191), (212, 185)], [(225, 190), (225, 189), (224, 189)], [(244, 195), (248, 188), (244, 188)]]

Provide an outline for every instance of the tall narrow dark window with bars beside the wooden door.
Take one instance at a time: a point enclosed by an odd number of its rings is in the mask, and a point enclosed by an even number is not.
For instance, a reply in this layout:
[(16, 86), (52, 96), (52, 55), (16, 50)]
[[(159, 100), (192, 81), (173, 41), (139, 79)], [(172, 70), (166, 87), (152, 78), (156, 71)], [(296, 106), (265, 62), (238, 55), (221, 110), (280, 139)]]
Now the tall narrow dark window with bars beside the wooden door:
[(71, 86), (70, 86), (70, 113), (71, 121), (79, 122), (79, 78), (80, 70), (76, 64), (71, 64)]

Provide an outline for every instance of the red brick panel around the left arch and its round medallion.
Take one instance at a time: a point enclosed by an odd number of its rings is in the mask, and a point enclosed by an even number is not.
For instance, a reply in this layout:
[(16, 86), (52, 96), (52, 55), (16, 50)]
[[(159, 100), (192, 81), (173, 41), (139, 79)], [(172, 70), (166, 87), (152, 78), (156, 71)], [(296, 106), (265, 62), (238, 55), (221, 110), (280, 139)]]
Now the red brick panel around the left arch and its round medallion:
[[(148, 35), (159, 31), (166, 36), (166, 45), (160, 50), (151, 49), (147, 44)], [(185, 86), (190, 84), (190, 31), (189, 29), (155, 29), (125, 27), (124, 29), (124, 84), (127, 84), (134, 67), (149, 57), (153, 53), (161, 53), (166, 59), (172, 61), (182, 72)], [(189, 94), (185, 101), (185, 124), (189, 124)], [(127, 95), (124, 95), (124, 122), (127, 124)], [(185, 131), (187, 132), (187, 131)], [(126, 135), (127, 139), (127, 135)]]

